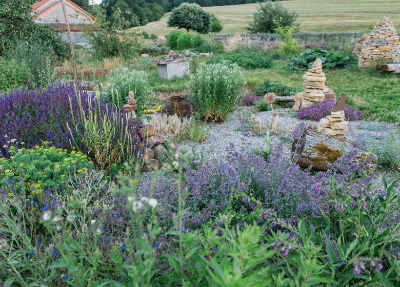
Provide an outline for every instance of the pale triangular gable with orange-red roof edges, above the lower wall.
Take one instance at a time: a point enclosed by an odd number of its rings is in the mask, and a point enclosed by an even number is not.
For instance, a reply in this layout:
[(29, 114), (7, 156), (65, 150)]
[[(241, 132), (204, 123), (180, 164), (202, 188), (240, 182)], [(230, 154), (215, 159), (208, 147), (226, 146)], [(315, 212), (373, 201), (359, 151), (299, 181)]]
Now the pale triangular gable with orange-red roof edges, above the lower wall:
[[(94, 23), (95, 18), (81, 7), (70, 0), (64, 0), (64, 3), (71, 26), (82, 27)], [(66, 24), (60, 0), (37, 1), (32, 6), (32, 12), (37, 24), (54, 24), (61, 27)]]

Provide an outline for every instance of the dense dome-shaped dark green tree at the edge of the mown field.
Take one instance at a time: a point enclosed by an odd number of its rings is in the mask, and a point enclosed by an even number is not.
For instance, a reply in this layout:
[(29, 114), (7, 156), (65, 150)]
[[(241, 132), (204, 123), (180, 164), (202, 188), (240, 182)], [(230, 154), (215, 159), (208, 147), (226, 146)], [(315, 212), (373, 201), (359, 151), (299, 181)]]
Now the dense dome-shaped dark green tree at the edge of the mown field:
[(182, 3), (172, 9), (167, 21), (168, 27), (194, 30), (199, 33), (208, 33), (211, 26), (211, 15), (195, 3)]

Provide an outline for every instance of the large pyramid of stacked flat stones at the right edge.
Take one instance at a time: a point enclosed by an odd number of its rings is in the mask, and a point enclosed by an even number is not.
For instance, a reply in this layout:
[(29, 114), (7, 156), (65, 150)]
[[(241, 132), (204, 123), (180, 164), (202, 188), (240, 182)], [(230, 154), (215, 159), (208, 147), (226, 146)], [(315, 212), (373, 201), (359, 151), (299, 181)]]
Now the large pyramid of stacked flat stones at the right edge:
[(398, 34), (388, 17), (379, 20), (364, 40), (358, 56), (358, 67), (376, 65), (380, 59), (386, 59), (390, 64), (400, 63)]

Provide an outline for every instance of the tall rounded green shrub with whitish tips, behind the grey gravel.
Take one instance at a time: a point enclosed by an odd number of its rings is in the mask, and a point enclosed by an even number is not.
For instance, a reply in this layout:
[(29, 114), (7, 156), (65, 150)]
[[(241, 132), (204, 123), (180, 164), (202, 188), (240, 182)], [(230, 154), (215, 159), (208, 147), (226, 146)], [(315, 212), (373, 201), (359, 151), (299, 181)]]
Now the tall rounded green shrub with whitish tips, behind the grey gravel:
[(187, 84), (190, 102), (209, 121), (224, 121), (243, 96), (246, 80), (235, 64), (201, 63)]

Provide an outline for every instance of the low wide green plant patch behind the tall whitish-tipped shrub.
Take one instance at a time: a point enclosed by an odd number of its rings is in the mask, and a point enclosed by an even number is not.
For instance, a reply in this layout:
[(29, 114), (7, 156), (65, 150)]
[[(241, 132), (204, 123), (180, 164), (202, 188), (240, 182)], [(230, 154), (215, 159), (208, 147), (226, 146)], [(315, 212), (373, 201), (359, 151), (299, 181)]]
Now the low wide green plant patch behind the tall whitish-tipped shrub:
[(236, 64), (246, 70), (265, 69), (272, 65), (272, 57), (269, 54), (248, 52), (248, 53), (225, 53), (209, 59), (209, 63)]

